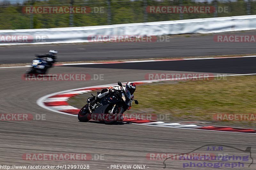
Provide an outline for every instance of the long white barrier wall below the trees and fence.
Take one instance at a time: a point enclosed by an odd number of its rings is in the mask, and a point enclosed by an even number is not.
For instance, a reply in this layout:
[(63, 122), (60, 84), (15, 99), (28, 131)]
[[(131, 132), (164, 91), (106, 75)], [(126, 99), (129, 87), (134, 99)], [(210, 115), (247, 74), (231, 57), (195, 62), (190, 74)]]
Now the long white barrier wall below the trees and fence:
[[(28, 39), (32, 39), (29, 43), (46, 44), (88, 42), (87, 37), (92, 35), (173, 35), (185, 33), (217, 33), (252, 29), (256, 29), (256, 15), (107, 26), (0, 30), (0, 45), (24, 44), (22, 41), (19, 43), (4, 42), (6, 39), (4, 39), (3, 36), (6, 38), (8, 35), (28, 35)], [(36, 36), (38, 39), (43, 38), (43, 42), (36, 40)]]

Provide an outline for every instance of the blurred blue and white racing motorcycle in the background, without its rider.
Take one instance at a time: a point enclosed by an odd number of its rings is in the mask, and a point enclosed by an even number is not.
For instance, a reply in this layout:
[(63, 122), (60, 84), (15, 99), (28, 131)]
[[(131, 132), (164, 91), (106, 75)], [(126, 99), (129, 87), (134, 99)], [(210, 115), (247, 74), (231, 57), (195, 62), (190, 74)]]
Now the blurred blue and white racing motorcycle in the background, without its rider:
[(26, 74), (36, 74), (36, 73), (46, 74), (48, 68), (50, 68), (50, 66), (48, 65), (46, 60), (36, 57), (32, 61), (31, 67), (30, 69), (27, 70)]

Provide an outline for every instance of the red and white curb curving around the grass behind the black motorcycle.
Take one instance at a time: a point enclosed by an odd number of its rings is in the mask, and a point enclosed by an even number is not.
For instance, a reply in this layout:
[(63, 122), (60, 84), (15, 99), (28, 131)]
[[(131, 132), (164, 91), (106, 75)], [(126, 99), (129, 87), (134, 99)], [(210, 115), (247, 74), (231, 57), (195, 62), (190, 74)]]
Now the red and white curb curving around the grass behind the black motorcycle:
[[(228, 75), (228, 76), (234, 76), (234, 75)], [(160, 81), (160, 80), (156, 80), (156, 81)], [(164, 81), (164, 80), (161, 80), (161, 81)], [(138, 81), (134, 83), (136, 85), (140, 85), (140, 84), (152, 83), (152, 82), (153, 81)], [(48, 94), (46, 96), (41, 97), (36, 101), (36, 103), (40, 107), (43, 107), (53, 112), (57, 112), (65, 115), (77, 116), (80, 109), (70, 106), (67, 102), (71, 97), (74, 97), (79, 94), (91, 92), (91, 91), (100, 91), (101, 89), (108, 88), (109, 86), (118, 86), (118, 85), (116, 84), (99, 85), (99, 86), (91, 86), (91, 87), (66, 90), (62, 92), (56, 92), (56, 93)], [(84, 102), (86, 103), (86, 101)], [(130, 119), (126, 117), (124, 117), (123, 122), (132, 122), (140, 125), (168, 127), (168, 128), (187, 128), (187, 129), (197, 129), (197, 130), (256, 133), (256, 130), (254, 129), (239, 129), (239, 128), (231, 128), (231, 127), (197, 125), (202, 122), (168, 123), (168, 122), (156, 122), (156, 121), (150, 121), (150, 120), (140, 120), (140, 119), (134, 119), (134, 118)]]

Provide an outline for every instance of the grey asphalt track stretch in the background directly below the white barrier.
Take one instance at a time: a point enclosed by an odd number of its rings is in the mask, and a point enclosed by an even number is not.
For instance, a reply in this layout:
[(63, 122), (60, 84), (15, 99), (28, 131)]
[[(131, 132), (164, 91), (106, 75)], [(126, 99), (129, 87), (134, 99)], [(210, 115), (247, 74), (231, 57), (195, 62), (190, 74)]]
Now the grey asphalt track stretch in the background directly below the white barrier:
[[(255, 35), (255, 31), (214, 35)], [(215, 42), (214, 35), (172, 36), (164, 42), (121, 42), (0, 46), (0, 64), (30, 63), (35, 54), (59, 51), (59, 61), (113, 60), (158, 57), (254, 54), (253, 42)]]

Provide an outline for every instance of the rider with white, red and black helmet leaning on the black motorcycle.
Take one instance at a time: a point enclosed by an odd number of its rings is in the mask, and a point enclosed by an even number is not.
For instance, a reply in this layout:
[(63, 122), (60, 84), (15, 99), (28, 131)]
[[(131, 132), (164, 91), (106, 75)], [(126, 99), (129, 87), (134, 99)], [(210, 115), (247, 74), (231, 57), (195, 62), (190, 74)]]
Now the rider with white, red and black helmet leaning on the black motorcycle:
[[(88, 102), (90, 102), (91, 105), (94, 105), (96, 102), (100, 101), (100, 99), (106, 95), (108, 95), (110, 92), (114, 92), (114, 90), (122, 90), (122, 88), (120, 86), (117, 87), (108, 87), (108, 89), (102, 89), (100, 94), (98, 94), (95, 98), (91, 98), (92, 100), (90, 100), (90, 98), (88, 99)], [(128, 110), (132, 107), (132, 99), (134, 98), (133, 93), (136, 90), (136, 85), (132, 82), (127, 82), (125, 87), (124, 87), (124, 91), (125, 92), (130, 92), (131, 94), (131, 98), (130, 101), (128, 101)]]

